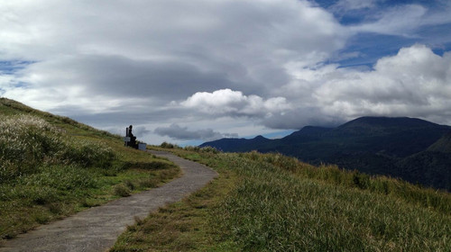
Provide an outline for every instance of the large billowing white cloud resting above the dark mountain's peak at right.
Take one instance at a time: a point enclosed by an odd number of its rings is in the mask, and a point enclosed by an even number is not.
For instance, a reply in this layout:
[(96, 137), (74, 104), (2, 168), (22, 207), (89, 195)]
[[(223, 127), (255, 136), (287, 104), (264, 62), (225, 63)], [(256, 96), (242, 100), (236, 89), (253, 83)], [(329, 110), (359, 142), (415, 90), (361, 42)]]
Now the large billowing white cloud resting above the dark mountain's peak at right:
[(327, 114), (414, 116), (450, 123), (451, 54), (442, 57), (424, 45), (400, 49), (378, 60), (373, 71), (340, 70), (315, 93)]

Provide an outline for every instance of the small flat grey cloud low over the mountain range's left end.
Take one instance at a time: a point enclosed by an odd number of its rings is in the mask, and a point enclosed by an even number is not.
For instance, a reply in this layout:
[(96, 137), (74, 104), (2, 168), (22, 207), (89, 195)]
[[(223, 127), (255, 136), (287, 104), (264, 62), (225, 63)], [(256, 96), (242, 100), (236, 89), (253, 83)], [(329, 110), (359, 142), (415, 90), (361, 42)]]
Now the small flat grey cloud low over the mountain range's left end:
[(171, 139), (190, 140), (215, 140), (222, 138), (237, 138), (238, 134), (220, 133), (212, 129), (189, 130), (188, 127), (181, 127), (177, 123), (172, 123), (168, 127), (158, 127), (154, 132), (161, 136), (168, 136)]

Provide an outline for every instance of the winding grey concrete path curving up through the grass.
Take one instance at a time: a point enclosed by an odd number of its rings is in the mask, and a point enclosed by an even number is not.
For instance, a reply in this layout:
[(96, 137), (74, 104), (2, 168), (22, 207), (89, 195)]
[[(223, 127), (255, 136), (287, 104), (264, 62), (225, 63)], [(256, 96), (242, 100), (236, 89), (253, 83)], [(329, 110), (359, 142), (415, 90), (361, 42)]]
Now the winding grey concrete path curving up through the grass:
[(134, 223), (134, 216), (144, 218), (167, 203), (178, 202), (217, 175), (207, 166), (167, 152), (152, 151), (152, 154), (170, 159), (180, 166), (183, 175), (161, 187), (78, 212), (64, 220), (19, 235), (2, 244), (0, 252), (106, 251), (115, 244), (126, 226)]

